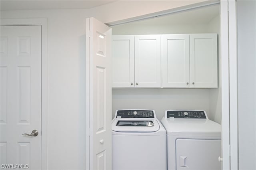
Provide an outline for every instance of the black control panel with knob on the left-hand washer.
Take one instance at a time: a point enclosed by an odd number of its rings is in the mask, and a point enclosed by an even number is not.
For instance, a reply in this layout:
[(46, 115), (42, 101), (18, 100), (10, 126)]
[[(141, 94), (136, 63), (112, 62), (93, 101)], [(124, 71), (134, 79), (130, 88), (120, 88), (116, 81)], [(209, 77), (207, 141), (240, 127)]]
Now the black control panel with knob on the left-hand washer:
[(154, 118), (152, 110), (118, 110), (117, 118)]

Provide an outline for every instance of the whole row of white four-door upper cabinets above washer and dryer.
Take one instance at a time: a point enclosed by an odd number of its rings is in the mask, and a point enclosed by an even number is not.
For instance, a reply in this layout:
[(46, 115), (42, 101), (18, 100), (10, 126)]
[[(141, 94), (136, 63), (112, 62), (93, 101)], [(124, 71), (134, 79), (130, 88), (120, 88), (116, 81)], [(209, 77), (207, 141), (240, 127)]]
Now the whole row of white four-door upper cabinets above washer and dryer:
[(112, 37), (113, 88), (218, 87), (217, 34)]

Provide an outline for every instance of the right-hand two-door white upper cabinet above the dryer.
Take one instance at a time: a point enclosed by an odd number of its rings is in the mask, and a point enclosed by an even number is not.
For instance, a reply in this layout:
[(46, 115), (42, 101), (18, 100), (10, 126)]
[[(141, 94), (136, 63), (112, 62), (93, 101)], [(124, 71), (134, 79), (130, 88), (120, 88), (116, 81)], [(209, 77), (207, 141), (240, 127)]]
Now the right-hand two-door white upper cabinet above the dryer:
[(217, 34), (162, 35), (163, 87), (218, 87)]

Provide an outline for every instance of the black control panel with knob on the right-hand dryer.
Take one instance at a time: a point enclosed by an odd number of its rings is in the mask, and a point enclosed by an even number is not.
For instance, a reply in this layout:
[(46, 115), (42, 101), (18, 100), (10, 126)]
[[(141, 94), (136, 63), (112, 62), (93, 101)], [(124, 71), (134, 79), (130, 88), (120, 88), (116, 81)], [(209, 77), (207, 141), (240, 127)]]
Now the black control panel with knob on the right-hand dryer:
[(206, 119), (206, 113), (204, 111), (167, 111), (166, 116), (170, 119)]

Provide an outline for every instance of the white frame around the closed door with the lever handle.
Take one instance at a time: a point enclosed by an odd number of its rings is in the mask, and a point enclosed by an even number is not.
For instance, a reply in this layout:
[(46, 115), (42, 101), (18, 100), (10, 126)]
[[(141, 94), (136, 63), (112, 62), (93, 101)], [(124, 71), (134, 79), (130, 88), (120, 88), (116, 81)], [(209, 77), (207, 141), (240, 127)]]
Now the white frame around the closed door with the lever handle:
[(47, 19), (1, 19), (1, 26), (41, 26), (41, 170), (47, 170)]

